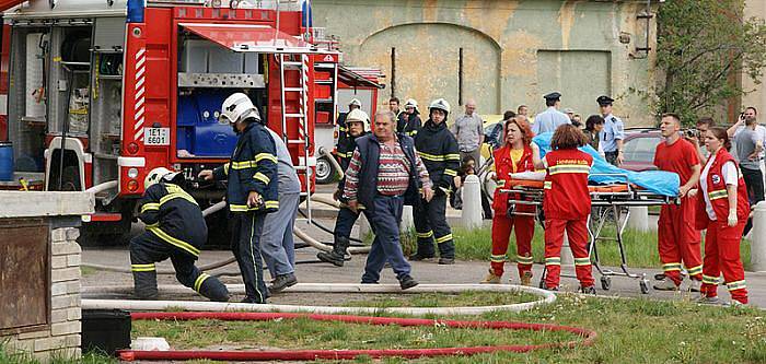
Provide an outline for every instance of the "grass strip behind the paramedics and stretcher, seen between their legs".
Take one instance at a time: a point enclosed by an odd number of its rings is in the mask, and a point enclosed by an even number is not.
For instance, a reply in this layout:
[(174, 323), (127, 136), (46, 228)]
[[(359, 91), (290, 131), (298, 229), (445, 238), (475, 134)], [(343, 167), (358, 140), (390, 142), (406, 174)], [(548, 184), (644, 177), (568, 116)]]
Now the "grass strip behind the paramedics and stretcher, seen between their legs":
[[(489, 227), (477, 230), (453, 228), (452, 235), (455, 238), (455, 256), (457, 259), (489, 261), (492, 248), (491, 230)], [(532, 239), (532, 254), (537, 263), (543, 263), (545, 258), (544, 236), (545, 232), (543, 228), (536, 226), (535, 236)], [(605, 227), (602, 236), (615, 236), (614, 228)], [(405, 235), (403, 238), (405, 250), (407, 248), (414, 249), (416, 242), (414, 234)], [(740, 255), (745, 269), (750, 268), (750, 240), (743, 239), (740, 247)], [(623, 234), (623, 245), (628, 267), (660, 269), (660, 256), (657, 251), (657, 232), (640, 233), (626, 230)], [(602, 265), (610, 267), (619, 266), (620, 257), (616, 242), (599, 242), (596, 248), (599, 249), (599, 258)], [(510, 261), (515, 261), (515, 236), (511, 234), (508, 247)]]

